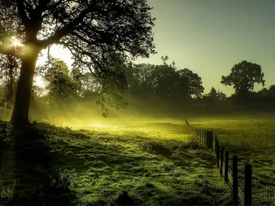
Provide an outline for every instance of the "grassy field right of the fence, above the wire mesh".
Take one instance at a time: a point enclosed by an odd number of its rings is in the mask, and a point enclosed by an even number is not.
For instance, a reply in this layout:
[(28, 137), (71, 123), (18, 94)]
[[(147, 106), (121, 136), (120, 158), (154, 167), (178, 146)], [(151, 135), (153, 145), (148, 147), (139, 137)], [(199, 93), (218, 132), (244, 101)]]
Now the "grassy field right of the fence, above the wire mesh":
[[(275, 181), (275, 119), (190, 119), (190, 124), (212, 130), (240, 165), (252, 164), (253, 174)], [(243, 169), (240, 168), (240, 169)]]

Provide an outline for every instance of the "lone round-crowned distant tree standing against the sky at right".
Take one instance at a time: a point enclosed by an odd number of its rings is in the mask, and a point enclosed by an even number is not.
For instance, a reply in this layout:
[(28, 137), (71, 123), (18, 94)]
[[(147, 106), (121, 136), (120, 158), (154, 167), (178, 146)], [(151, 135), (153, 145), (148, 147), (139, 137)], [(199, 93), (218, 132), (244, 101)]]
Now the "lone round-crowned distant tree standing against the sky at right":
[(229, 76), (221, 77), (221, 84), (233, 86), (236, 94), (243, 95), (245, 98), (248, 92), (254, 89), (255, 83), (265, 86), (263, 76), (260, 65), (243, 60), (234, 65)]

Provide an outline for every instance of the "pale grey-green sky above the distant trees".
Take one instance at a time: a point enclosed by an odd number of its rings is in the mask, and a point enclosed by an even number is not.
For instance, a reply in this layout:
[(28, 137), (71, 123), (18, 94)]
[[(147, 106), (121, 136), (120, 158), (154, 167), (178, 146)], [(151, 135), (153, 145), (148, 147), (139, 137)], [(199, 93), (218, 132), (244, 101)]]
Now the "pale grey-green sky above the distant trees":
[[(205, 93), (211, 87), (227, 95), (221, 76), (247, 60), (261, 65), (265, 87), (275, 84), (275, 0), (148, 0), (156, 18), (153, 28), (157, 54), (136, 63), (162, 64), (173, 60), (201, 77)], [(68, 51), (52, 48), (56, 58), (72, 64)], [(255, 85), (255, 91), (262, 89)]]

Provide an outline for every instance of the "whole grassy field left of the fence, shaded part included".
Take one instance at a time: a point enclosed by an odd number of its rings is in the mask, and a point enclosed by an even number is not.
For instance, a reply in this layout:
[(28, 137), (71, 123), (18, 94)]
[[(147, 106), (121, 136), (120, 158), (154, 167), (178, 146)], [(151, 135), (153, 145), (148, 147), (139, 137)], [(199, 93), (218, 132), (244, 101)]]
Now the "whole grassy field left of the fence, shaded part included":
[(182, 122), (86, 129), (1, 122), (4, 205), (231, 205), (214, 152)]

